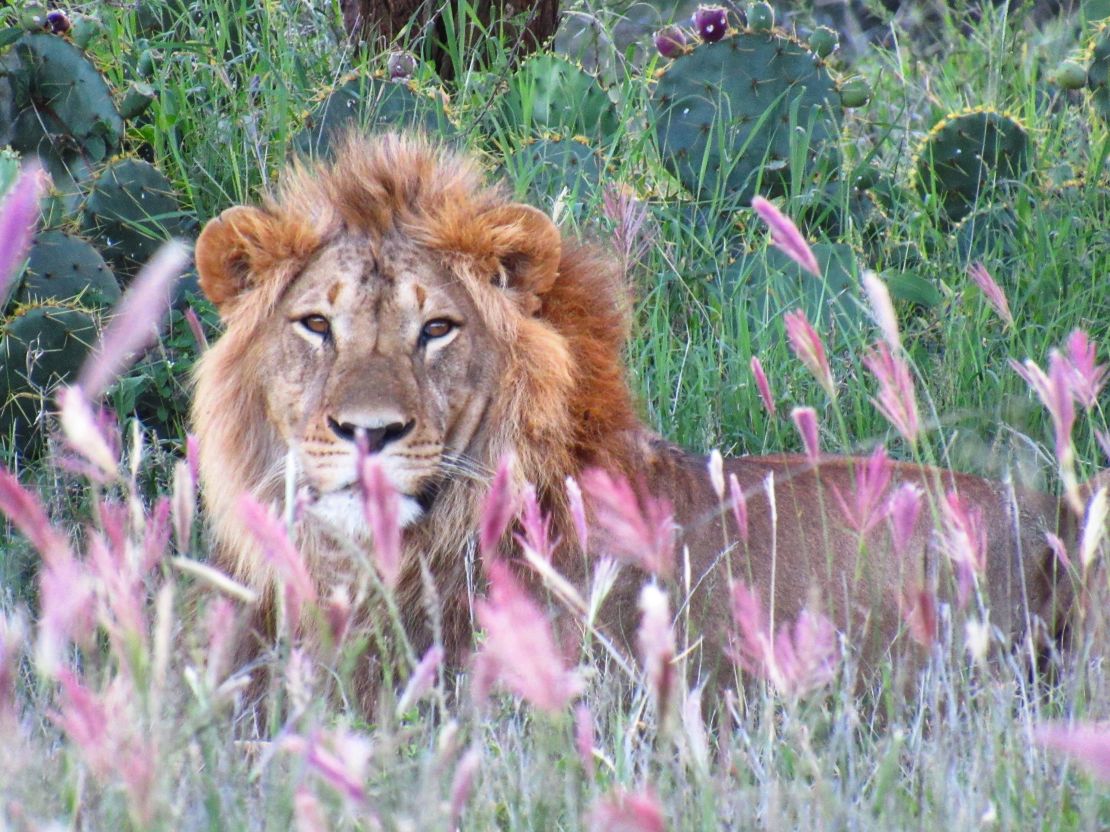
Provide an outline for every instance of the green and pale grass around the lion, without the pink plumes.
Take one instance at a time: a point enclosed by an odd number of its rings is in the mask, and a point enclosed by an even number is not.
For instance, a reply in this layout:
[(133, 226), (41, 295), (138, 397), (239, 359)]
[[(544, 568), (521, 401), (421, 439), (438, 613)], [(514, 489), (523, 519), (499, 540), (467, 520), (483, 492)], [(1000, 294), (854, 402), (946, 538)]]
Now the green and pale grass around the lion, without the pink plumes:
[[(198, 0), (157, 31), (140, 31), (130, 6), (80, 3), (71, 9), (77, 11), (104, 26), (91, 52), (114, 89), (125, 87), (150, 50), (159, 98), (144, 120), (130, 125), (128, 146), (153, 156), (202, 222), (259, 196), (323, 91), (351, 71), (384, 67), (382, 55), (343, 42), (336, 10), (326, 3)], [(599, 19), (607, 21), (610, 12)], [(465, 3), (454, 13), (466, 16)], [(1110, 345), (1110, 129), (1081, 95), (1066, 95), (1045, 80), (1073, 49), (1077, 27), (1060, 19), (1035, 28), (1003, 4), (983, 10), (978, 22), (946, 13), (931, 38), (896, 31), (891, 45), (859, 57), (852, 71), (871, 81), (875, 95), (846, 120), (844, 166), (878, 168), (897, 199), (878, 243), (850, 224), (833, 240), (858, 252), (859, 268), (884, 275), (900, 271), (900, 252), (911, 247), (919, 256), (909, 271), (939, 298), (898, 306), (928, 423), (921, 458), (989, 476), (1013, 473), (1050, 490), (1059, 488), (1051, 425), (1008, 361), (1031, 357), (1043, 366), (1049, 349), (1077, 327), (1100, 345), (1103, 362)], [(496, 173), (527, 131), (491, 106), (508, 74), (512, 44), (491, 33), (481, 49), (483, 64), (460, 42), (452, 47), (457, 81), (447, 92), (457, 129), (451, 140)], [(610, 98), (619, 128), (595, 146), (606, 182), (633, 189), (648, 212), (648, 246), (629, 271), (636, 314), (627, 356), (645, 420), (692, 449), (771, 453), (800, 447), (787, 414), (810, 405), (821, 417), (826, 449), (859, 451), (886, 443), (892, 455), (908, 455), (871, 404), (874, 382), (860, 356), (878, 336), (867, 315), (823, 327), (839, 386), (834, 406), (794, 358), (783, 329), (783, 313), (805, 286), (783, 278), (770, 302), (754, 291), (747, 278), (761, 263), (764, 227), (720, 196), (692, 207), (652, 139), (645, 79), (655, 59), (639, 67), (609, 58), (607, 65), (617, 68)], [(417, 81), (435, 83), (426, 65)], [(914, 153), (929, 128), (949, 112), (979, 105), (1019, 118), (1036, 145), (1033, 171), (1012, 201), (1017, 232), (976, 254), (1006, 290), (1018, 322), (1012, 331), (967, 278), (971, 257), (958, 234), (911, 185)], [(532, 181), (529, 171), (508, 170)], [(795, 213), (811, 187), (796, 182), (786, 210)], [(557, 183), (547, 191), (519, 190), (541, 207), (557, 209), (582, 235), (612, 236), (601, 189), (582, 189), (571, 201), (561, 197)], [(214, 321), (210, 313), (205, 319)], [(163, 353), (141, 371), (168, 387), (165, 400), (178, 403), (185, 398), (181, 374), (193, 357), (183, 333), (175, 321), (167, 339), (176, 351), (174, 365), (162, 357), (171, 353)], [(753, 355), (770, 377), (778, 418), (760, 404), (748, 372)], [(125, 413), (133, 400), (127, 381), (113, 396)], [(1104, 408), (1103, 399), (1077, 425), (1083, 475), (1108, 464), (1094, 437), (1107, 429)], [(139, 479), (113, 496), (150, 500), (169, 494), (175, 443), (153, 442)], [(23, 466), (12, 448), (4, 448), (3, 461), (21, 469), (60, 524), (90, 519), (93, 489), (48, 465)], [(203, 542), (196, 548), (191, 554), (202, 555)], [(0, 610), (33, 608), (36, 559), (13, 531), (0, 537)], [(1104, 598), (1104, 556), (1097, 569), (1091, 582)], [(273, 745), (246, 748), (238, 740), (256, 735), (252, 714), (233, 719), (234, 691), (221, 690), (226, 668), (206, 677), (213, 661), (208, 636), (183, 623), (195, 615), (195, 592), (169, 567), (149, 581), (144, 613), (151, 631), (135, 653), (143, 672), (132, 671), (134, 689), (120, 712), (109, 716), (154, 743), (150, 805), (129, 795), (118, 777), (98, 777), (64, 739), (49, 716), (61, 707), (57, 686), (37, 672), (29, 650), (20, 666), (18, 729), (3, 722), (0, 703), (0, 738), (8, 747), (0, 757), (0, 826), (57, 821), (87, 829), (287, 829), (300, 793), (302, 801), (315, 795), (336, 829), (447, 829), (452, 781), (468, 750), (481, 762), (463, 814), (467, 830), (584, 829), (589, 808), (617, 787), (653, 790), (673, 830), (1110, 825), (1107, 785), (1047, 754), (1031, 734), (1046, 720), (1110, 716), (1101, 660), (1108, 629), (1097, 603), (1074, 652), (1061, 660), (1054, 686), (1031, 684), (1025, 663), (1000, 645), (993, 661), (973, 664), (963, 632), (948, 622), (915, 686), (895, 679), (860, 694), (849, 662), (827, 692), (799, 702), (759, 682), (738, 687), (728, 704), (707, 692), (715, 704), (707, 708), (706, 726), (696, 707), (685, 718), (660, 718), (640, 679), (598, 660), (583, 697), (596, 722), (591, 774), (575, 753), (571, 713), (547, 717), (508, 697), (478, 712), (465, 677), (442, 679), (430, 703), (400, 717), (393, 714), (394, 693), (386, 691), (377, 722), (366, 724), (337, 696), (353, 656), (316, 667), (305, 680), (280, 653), (280, 666), (292, 670), (274, 700), (292, 702), (287, 721), (266, 734), (275, 737)], [(174, 589), (160, 630), (153, 593), (163, 586)], [(2, 642), (0, 631), (0, 672)], [(30, 648), (30, 637), (23, 646)], [(87, 683), (100, 689), (130, 676), (121, 670), (125, 652), (100, 633), (80, 651)], [(279, 719), (275, 711), (270, 717)], [(347, 730), (371, 743), (361, 778), (366, 805), (345, 805), (303, 754), (282, 745), (289, 734)], [(703, 730), (708, 757), (699, 751)], [(117, 751), (122, 759), (125, 749)]]

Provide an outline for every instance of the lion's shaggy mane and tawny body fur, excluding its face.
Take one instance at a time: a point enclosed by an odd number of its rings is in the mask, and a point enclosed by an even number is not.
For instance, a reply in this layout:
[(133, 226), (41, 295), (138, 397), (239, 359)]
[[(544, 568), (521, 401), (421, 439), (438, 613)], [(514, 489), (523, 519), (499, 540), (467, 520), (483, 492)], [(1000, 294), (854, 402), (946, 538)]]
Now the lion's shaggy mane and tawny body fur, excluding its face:
[[(735, 528), (720, 528), (727, 513), (718, 509), (704, 460), (663, 442), (636, 416), (623, 366), (629, 302), (612, 258), (562, 239), (538, 212), (483, 184), (470, 159), (395, 135), (352, 138), (330, 164), (292, 166), (261, 210), (229, 210), (198, 242), (201, 286), (225, 324), (200, 364), (193, 408), (218, 566), (269, 591), (272, 576), (250, 544), (236, 506), (243, 493), (280, 501), (287, 443), (274, 428), (274, 393), (268, 387), (286, 385), (282, 395), (290, 403), (302, 392), (296, 382), (283, 381), (282, 368), (266, 362), (260, 345), (289, 325), (276, 310), (299, 275), (321, 251), (349, 239), (364, 239), (374, 251), (383, 241), (401, 240), (420, 256), (433, 257), (436, 268), (465, 291), (477, 313), (467, 326), (493, 346), (484, 369), (471, 368), (486, 373), (482, 393), (490, 406), (467, 457), (492, 471), (504, 454), (515, 455), (517, 481), (536, 486), (563, 541), (556, 566), (573, 580), (585, 580), (588, 564), (573, 548), (564, 480), (601, 466), (675, 504), (689, 552), (692, 635), (704, 636), (704, 674), (720, 663), (729, 570), (774, 606), (776, 620), (793, 618), (816, 595), (871, 659), (905, 641), (899, 592), (908, 581), (941, 568), (928, 518), (919, 524), (909, 557), (890, 550), (885, 529), (861, 547), (835, 510), (824, 510), (834, 505), (831, 486), (851, 490), (854, 460), (830, 458), (815, 468), (797, 457), (733, 459), (726, 474), (736, 474), (749, 494), (751, 542), (723, 556), (723, 540), (738, 536)], [(777, 484), (776, 528), (764, 494), (769, 473)], [(1056, 499), (1022, 494), (1013, 505), (1001, 486), (908, 465), (898, 467), (897, 479), (919, 481), (934, 494), (956, 488), (982, 508), (995, 623), (1016, 638), (1036, 617), (1049, 630), (1059, 628), (1067, 593), (1058, 590), (1054, 561), (1043, 542), (1043, 532), (1061, 522)], [(442, 638), (457, 661), (471, 643), (466, 562), (473, 564), (487, 483), (447, 474), (438, 488), (427, 513), (405, 530), (397, 599), (411, 638), (417, 647), (428, 643), (423, 559), (443, 608)], [(311, 529), (300, 542), (326, 595), (343, 575), (336, 564), (350, 559), (349, 549)], [(513, 557), (509, 536), (504, 548)], [(618, 643), (632, 643), (642, 579), (626, 569), (606, 603), (603, 625)], [(372, 676), (367, 670), (366, 690), (373, 688)]]

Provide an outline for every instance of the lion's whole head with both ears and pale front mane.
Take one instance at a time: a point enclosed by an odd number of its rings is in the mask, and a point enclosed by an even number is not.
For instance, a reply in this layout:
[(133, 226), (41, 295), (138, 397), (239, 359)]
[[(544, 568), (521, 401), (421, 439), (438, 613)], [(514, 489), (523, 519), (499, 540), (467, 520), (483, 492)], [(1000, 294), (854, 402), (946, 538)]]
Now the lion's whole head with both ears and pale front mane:
[(241, 546), (242, 494), (281, 501), (290, 458), (312, 514), (364, 537), (361, 446), (403, 525), (438, 509), (462, 527), (461, 481), (565, 443), (575, 379), (543, 314), (562, 256), (545, 214), (397, 136), (353, 141), (209, 222), (196, 268), (225, 331), (199, 366), (193, 424), (223, 542)]

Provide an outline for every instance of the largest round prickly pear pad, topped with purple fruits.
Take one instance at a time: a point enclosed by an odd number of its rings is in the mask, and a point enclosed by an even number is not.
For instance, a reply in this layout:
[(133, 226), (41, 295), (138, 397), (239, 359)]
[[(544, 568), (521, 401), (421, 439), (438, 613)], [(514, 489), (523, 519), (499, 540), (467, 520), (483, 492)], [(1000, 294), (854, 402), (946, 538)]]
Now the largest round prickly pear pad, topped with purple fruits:
[(695, 194), (781, 193), (791, 159), (804, 158), (808, 176), (839, 155), (837, 81), (779, 30), (731, 32), (677, 57), (658, 75), (652, 113), (663, 161)]

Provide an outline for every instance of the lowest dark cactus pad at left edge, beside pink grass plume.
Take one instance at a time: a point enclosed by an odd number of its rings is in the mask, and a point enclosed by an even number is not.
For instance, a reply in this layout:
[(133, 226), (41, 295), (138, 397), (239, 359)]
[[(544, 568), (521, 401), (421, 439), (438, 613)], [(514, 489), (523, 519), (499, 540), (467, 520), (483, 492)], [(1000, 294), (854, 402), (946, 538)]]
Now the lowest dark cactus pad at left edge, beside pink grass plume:
[(77, 375), (95, 338), (93, 314), (77, 304), (20, 307), (0, 324), (0, 440), (41, 448), (47, 396)]

